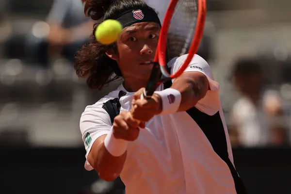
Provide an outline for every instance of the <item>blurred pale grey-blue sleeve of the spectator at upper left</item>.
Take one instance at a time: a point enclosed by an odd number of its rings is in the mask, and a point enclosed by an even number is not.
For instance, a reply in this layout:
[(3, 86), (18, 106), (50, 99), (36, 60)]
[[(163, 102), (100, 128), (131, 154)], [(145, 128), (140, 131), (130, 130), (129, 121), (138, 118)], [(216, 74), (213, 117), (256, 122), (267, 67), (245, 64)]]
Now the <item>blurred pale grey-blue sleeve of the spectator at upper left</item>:
[(54, 0), (47, 21), (51, 24), (62, 25), (70, 6), (68, 0)]

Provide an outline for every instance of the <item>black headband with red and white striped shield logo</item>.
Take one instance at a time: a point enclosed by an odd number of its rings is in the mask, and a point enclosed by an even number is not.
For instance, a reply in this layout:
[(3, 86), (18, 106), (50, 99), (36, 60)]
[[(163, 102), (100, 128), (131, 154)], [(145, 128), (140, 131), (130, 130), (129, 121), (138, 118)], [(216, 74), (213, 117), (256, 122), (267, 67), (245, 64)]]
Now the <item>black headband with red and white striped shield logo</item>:
[(158, 14), (149, 8), (129, 9), (113, 19), (119, 21), (122, 28), (139, 22), (156, 22), (162, 26)]

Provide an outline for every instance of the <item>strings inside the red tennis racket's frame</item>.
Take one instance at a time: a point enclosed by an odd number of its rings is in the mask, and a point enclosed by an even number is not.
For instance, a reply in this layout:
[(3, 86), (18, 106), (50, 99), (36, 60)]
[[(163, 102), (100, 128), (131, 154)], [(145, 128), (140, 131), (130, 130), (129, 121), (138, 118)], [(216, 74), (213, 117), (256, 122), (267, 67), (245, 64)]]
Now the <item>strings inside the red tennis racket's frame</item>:
[(198, 16), (197, 0), (179, 0), (173, 13), (167, 39), (168, 60), (188, 52)]

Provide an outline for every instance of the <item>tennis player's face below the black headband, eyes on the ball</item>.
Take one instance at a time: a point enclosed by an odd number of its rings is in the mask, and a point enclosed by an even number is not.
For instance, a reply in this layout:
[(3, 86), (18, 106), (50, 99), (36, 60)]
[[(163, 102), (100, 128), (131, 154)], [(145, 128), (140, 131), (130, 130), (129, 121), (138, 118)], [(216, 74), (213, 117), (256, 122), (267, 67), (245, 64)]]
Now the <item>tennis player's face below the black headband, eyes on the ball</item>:
[(154, 22), (132, 24), (117, 40), (117, 63), (125, 79), (149, 79), (158, 45), (160, 26)]

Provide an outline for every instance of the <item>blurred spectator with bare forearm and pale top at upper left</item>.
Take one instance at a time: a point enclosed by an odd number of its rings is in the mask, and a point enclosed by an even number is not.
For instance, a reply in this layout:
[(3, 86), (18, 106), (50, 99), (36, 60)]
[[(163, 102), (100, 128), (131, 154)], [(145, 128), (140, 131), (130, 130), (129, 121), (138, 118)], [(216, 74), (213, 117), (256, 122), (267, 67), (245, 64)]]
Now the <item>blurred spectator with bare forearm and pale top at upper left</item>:
[[(84, 16), (81, 0), (54, 0), (47, 17), (49, 34), (31, 42), (30, 53), (37, 52), (38, 62), (48, 65), (49, 59), (65, 57), (74, 60), (75, 52), (92, 34), (94, 22)], [(30, 44), (29, 44), (30, 45)]]

